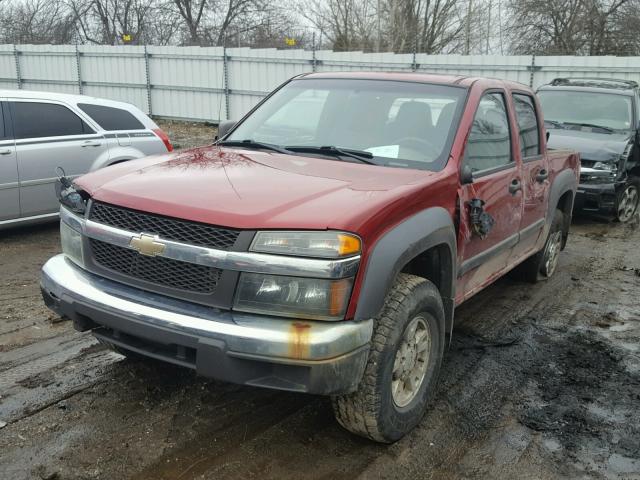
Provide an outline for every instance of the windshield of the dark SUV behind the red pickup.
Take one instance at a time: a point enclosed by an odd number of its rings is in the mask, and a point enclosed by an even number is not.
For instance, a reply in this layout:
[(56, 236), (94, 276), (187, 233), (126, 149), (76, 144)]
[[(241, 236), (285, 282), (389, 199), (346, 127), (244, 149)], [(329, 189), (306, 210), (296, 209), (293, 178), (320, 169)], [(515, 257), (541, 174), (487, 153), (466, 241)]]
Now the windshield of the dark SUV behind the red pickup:
[[(631, 128), (631, 97), (571, 90), (538, 92), (544, 120), (552, 128), (591, 128), (598, 133)], [(582, 126), (582, 127), (581, 127)], [(597, 127), (603, 127), (598, 131)]]

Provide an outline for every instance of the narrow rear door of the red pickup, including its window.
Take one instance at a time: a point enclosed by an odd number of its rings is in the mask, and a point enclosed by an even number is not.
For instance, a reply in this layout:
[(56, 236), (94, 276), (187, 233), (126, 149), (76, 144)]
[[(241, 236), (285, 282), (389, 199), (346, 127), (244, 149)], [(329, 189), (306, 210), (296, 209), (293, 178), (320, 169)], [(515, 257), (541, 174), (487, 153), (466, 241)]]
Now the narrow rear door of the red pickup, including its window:
[(520, 241), (513, 251), (512, 261), (535, 251), (546, 216), (549, 195), (549, 159), (542, 153), (542, 128), (538, 108), (530, 93), (512, 92), (518, 128), (518, 156), (522, 161), (522, 191), (524, 207), (520, 222)]

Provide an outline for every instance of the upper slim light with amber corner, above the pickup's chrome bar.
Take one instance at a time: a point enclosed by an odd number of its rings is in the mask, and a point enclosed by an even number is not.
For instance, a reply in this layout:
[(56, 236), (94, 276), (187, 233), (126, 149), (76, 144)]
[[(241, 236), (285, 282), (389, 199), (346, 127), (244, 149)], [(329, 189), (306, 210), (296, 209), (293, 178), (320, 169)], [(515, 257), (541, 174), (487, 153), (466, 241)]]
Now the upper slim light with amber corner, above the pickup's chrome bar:
[(360, 253), (360, 238), (344, 232), (258, 232), (250, 250), (302, 257), (338, 258)]

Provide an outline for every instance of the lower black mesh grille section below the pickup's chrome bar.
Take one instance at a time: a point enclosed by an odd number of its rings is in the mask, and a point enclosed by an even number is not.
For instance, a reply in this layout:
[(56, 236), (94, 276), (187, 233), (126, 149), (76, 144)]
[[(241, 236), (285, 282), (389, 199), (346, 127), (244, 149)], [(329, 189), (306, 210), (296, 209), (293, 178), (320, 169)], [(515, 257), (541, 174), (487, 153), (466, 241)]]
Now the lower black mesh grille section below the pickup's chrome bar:
[(128, 248), (89, 239), (97, 265), (129, 278), (190, 293), (212, 294), (222, 270), (179, 262), (164, 257), (147, 257)]

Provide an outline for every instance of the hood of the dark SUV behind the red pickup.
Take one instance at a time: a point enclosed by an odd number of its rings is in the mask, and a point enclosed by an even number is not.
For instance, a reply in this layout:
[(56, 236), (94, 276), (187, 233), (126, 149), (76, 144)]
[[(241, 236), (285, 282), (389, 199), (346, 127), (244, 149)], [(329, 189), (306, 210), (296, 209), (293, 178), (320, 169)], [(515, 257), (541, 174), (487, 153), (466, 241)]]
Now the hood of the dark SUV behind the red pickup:
[(580, 152), (583, 160), (611, 162), (618, 160), (631, 141), (632, 133), (594, 133), (579, 130), (550, 129), (549, 148), (569, 148)]

